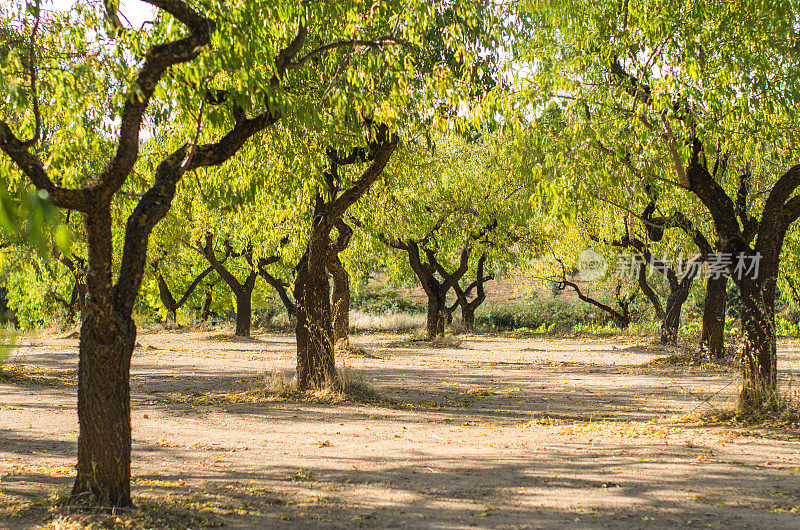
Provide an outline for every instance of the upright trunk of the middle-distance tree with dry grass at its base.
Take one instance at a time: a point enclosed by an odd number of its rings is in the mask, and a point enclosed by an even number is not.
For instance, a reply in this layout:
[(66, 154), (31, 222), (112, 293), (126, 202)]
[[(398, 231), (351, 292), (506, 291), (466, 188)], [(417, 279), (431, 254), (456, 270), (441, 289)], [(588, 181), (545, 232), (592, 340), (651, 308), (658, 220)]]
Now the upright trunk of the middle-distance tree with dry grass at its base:
[(322, 238), (312, 231), (311, 239), (309, 252), (297, 266), (295, 279), (297, 387), (300, 390), (325, 387), (338, 390), (340, 381), (333, 350), (330, 286), (325, 270), (327, 234)]

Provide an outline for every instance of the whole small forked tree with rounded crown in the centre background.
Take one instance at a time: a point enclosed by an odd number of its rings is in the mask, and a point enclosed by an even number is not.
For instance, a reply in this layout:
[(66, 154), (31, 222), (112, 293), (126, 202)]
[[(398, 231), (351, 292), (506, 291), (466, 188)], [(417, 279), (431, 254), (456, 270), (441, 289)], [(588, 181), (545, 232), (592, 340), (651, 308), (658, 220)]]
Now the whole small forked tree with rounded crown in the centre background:
[[(465, 325), (474, 323), (474, 310), (485, 296), (478, 292), (470, 302), (468, 292), (483, 290), (485, 269), (499, 268), (512, 258), (509, 249), (529, 229), (530, 219), (522, 189), (513, 178), (492, 170), (488, 140), (456, 135), (434, 139), (435, 148), (407, 145), (392, 167), (394, 184), (379, 186), (358, 214), (369, 233), (405, 254), (403, 261), (390, 262), (391, 272), (421, 284), (428, 298), (431, 339), (444, 333), (458, 305)], [(462, 287), (465, 278), (476, 282)], [(457, 284), (456, 305), (448, 307), (448, 293)]]

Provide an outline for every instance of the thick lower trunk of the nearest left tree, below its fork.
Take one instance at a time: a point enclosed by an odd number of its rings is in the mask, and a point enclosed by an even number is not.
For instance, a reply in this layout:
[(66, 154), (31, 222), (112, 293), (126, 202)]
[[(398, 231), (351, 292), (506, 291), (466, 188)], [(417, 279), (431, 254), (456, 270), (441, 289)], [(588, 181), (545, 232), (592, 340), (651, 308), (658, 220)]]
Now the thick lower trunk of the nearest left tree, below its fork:
[(130, 506), (130, 364), (136, 342), (131, 318), (86, 315), (78, 362), (77, 477), (72, 496)]

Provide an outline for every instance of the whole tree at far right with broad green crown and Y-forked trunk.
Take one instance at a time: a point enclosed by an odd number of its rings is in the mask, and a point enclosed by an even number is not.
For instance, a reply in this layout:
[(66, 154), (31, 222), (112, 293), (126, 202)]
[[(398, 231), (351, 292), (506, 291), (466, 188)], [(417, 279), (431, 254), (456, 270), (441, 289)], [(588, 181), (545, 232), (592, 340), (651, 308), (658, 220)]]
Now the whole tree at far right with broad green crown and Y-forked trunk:
[[(582, 141), (552, 145), (548, 163), (568, 172), (579, 158), (605, 161), (570, 178), (571, 194), (650, 187), (703, 208), (742, 295), (741, 409), (775, 405), (775, 288), (800, 217), (796, 3), (550, 7), (531, 5), (529, 102), (559, 101)], [(743, 173), (752, 175), (744, 190), (726, 178)]]

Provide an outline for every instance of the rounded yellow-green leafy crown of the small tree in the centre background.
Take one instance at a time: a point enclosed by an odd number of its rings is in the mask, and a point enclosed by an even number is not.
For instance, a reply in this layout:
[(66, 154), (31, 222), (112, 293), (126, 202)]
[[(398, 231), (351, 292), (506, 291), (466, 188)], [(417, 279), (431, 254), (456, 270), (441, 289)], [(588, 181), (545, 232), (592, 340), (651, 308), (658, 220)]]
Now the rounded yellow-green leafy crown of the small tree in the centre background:
[(403, 145), (387, 177), (356, 208), (353, 216), (372, 238), (366, 248), (380, 256), (399, 285), (417, 281), (408, 258), (376, 239), (388, 245), (420, 242), (447, 271), (455, 270), (462, 251), (469, 249), (470, 268), (462, 280), (467, 284), (484, 253), (484, 273), (501, 274), (520, 257), (515, 243), (536, 230), (529, 224), (532, 205), (515, 175), (495, 163), (498, 144), (507, 139), (473, 131), (469, 138), (434, 134), (430, 140)]

